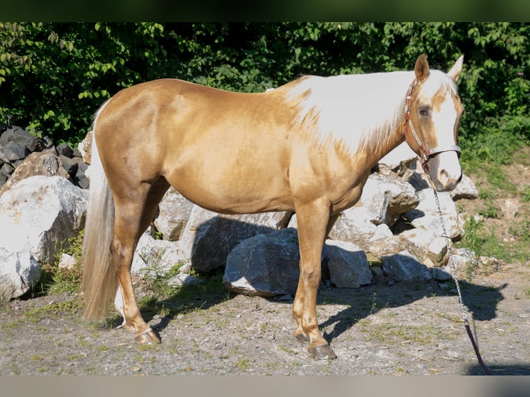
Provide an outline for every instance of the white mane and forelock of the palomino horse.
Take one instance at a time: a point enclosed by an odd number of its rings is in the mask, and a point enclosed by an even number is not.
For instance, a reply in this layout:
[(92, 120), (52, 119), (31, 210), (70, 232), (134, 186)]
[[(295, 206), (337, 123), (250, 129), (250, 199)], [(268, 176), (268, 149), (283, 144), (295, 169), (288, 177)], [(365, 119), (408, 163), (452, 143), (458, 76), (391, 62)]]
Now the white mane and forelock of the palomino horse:
[[(332, 77), (305, 76), (287, 94), (298, 110), (293, 122), (316, 139), (334, 142), (350, 154), (357, 149), (376, 151), (404, 122), (405, 96), (414, 72), (369, 73)], [(452, 80), (431, 71), (420, 95), (432, 97), (441, 84)], [(456, 87), (451, 87), (456, 90)]]

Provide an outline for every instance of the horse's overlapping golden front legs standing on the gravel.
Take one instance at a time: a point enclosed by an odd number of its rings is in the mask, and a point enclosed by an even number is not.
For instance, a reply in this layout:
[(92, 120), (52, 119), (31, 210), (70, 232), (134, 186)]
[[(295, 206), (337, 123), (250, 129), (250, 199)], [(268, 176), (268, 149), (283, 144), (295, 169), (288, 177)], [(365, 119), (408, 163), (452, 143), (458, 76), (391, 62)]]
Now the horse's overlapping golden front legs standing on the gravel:
[(297, 323), (295, 338), (309, 341), (309, 353), (315, 358), (336, 358), (326, 342), (316, 319), (316, 295), (321, 277), (321, 255), (327, 232), (336, 216), (330, 217), (325, 201), (300, 205), (296, 208), (298, 241), (300, 243), (300, 279), (293, 303), (293, 318)]

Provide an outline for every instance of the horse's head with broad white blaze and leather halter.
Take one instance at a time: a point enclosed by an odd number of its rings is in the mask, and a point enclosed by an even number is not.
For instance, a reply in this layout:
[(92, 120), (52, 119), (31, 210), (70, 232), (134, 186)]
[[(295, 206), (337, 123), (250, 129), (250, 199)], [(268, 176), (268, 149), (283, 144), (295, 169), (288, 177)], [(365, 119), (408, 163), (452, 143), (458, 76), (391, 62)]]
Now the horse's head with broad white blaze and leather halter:
[(426, 56), (420, 55), (407, 93), (405, 139), (439, 192), (453, 190), (462, 179), (457, 133), (464, 108), (455, 83), (463, 59), (443, 73), (430, 71)]

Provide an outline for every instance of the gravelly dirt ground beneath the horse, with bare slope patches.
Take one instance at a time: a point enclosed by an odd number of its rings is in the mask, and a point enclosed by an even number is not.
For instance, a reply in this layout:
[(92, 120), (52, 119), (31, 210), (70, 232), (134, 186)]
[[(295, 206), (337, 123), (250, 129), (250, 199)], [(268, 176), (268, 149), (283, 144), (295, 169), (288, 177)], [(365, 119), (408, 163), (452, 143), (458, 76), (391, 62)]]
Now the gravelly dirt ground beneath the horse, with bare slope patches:
[[(518, 183), (530, 180), (524, 164), (509, 175)], [(506, 210), (507, 199), (518, 196), (500, 198), (502, 211), (487, 221), (510, 241), (515, 215)], [(474, 214), (483, 204), (463, 203), (462, 212)], [(484, 362), (495, 375), (530, 375), (530, 264), (501, 263), (467, 276), (459, 270)], [(144, 303), (144, 317), (162, 342), (140, 346), (116, 329), (118, 317), (84, 322), (76, 293), (15, 299), (0, 303), (0, 375), (483, 374), (453, 281), (401, 284), (379, 276), (355, 290), (321, 288), (318, 320), (336, 360), (314, 360), (295, 340), (292, 302), (290, 296), (230, 295), (219, 279), (219, 288)]]

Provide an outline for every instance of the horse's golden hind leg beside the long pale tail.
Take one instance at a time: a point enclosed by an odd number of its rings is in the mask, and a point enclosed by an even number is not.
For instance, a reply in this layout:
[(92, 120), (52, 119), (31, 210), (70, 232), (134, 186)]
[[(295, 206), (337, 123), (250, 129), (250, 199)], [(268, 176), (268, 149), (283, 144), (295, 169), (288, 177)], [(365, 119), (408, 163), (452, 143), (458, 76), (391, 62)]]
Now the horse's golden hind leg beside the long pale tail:
[(135, 340), (140, 343), (156, 343), (160, 340), (140, 314), (132, 286), (131, 264), (138, 239), (151, 223), (167, 187), (167, 181), (160, 178), (153, 185), (145, 183), (115, 199), (116, 220), (111, 252), (122, 295), (123, 327), (134, 332)]

